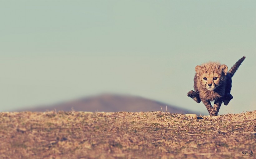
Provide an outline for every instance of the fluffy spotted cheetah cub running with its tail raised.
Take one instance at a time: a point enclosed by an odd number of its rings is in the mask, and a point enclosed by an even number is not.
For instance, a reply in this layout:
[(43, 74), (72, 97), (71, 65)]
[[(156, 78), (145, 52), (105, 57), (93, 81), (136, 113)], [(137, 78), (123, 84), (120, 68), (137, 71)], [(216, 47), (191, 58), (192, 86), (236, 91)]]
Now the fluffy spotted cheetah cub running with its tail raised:
[[(202, 66), (197, 65), (194, 76), (195, 91), (189, 91), (187, 96), (193, 98), (197, 103), (202, 101), (210, 116), (217, 116), (222, 102), (224, 102), (224, 105), (228, 105), (233, 98), (230, 94), (231, 77), (244, 59), (245, 56), (239, 59), (229, 71), (228, 66), (221, 65), (219, 62), (208, 62), (202, 64)], [(210, 101), (214, 101), (214, 107), (212, 107)]]

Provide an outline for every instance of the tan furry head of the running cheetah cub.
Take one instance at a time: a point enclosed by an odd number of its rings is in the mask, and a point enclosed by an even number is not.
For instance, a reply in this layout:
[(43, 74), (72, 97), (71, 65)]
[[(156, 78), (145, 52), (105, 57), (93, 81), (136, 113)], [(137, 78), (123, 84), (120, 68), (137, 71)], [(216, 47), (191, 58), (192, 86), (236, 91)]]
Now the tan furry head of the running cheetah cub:
[(225, 81), (228, 66), (221, 65), (218, 62), (208, 62), (202, 64), (202, 66), (197, 65), (195, 71), (199, 77), (200, 85), (212, 91)]

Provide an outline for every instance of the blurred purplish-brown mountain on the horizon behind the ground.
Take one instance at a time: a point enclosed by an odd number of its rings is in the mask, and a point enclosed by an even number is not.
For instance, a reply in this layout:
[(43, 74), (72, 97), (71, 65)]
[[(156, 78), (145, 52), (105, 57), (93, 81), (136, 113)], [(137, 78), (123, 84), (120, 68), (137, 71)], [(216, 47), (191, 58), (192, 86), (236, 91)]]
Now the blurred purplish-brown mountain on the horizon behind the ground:
[[(104, 111), (104, 112), (117, 112), (117, 111), (167, 111), (170, 113), (193, 113), (190, 110), (174, 107), (162, 102), (137, 97), (130, 95), (116, 95), (116, 94), (101, 94), (98, 96), (79, 98), (69, 102), (57, 103), (50, 106), (40, 106), (22, 109), (19, 111)], [(162, 110), (161, 110), (162, 107)], [(198, 114), (199, 115), (199, 114)]]

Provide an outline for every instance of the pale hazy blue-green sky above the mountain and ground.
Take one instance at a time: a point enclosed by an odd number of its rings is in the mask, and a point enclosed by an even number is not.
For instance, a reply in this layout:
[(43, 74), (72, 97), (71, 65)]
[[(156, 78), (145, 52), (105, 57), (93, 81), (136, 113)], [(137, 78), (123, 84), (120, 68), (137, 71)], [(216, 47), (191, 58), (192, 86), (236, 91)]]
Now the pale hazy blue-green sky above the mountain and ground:
[(219, 61), (234, 99), (256, 109), (256, 1), (0, 1), (0, 111), (126, 93), (207, 113), (186, 96)]

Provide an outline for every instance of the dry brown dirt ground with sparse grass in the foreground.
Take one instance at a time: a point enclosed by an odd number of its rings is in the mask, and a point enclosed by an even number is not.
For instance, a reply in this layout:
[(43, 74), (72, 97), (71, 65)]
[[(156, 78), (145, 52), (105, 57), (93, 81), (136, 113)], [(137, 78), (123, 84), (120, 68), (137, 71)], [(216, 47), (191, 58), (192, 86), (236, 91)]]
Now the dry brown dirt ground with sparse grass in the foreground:
[(0, 159), (256, 158), (255, 117), (2, 112)]

